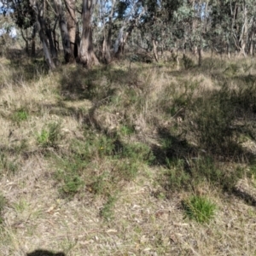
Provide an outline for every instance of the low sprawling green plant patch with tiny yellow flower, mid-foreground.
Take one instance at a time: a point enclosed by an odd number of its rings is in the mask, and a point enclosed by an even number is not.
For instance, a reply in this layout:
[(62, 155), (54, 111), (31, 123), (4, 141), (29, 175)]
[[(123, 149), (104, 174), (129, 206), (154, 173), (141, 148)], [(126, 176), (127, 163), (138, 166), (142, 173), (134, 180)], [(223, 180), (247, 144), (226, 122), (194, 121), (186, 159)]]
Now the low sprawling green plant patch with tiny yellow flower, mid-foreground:
[(120, 143), (115, 137), (85, 130), (84, 140), (74, 140), (61, 158), (53, 160), (61, 195), (75, 195), (85, 185), (88, 191), (106, 196), (120, 183), (134, 180), (143, 164), (152, 163), (154, 154), (143, 143)]

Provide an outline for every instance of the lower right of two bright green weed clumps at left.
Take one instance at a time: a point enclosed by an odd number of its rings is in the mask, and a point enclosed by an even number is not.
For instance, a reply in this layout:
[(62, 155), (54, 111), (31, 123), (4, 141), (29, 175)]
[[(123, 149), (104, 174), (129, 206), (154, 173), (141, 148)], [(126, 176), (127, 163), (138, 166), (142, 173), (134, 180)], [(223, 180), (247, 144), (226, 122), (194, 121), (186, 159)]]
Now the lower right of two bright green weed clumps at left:
[(61, 124), (50, 123), (37, 135), (38, 144), (43, 148), (56, 148), (61, 139)]

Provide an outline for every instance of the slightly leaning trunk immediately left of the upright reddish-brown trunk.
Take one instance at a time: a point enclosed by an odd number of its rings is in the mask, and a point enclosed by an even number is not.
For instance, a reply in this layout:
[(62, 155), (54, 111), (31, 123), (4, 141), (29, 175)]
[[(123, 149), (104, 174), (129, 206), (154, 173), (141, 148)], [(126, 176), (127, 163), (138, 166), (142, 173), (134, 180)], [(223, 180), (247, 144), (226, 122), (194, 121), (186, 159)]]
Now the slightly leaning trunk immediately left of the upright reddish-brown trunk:
[(61, 31), (62, 46), (64, 50), (64, 59), (66, 63), (73, 60), (73, 52), (70, 47), (70, 39), (67, 31), (67, 22), (65, 19), (61, 0), (55, 0), (55, 9), (59, 18), (59, 27)]

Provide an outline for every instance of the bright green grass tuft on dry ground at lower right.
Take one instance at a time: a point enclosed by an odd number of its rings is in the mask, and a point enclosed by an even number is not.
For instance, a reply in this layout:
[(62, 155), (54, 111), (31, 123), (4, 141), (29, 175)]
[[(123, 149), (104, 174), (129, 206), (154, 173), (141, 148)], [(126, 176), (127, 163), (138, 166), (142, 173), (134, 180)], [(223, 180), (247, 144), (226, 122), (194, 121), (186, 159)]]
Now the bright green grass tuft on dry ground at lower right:
[(216, 205), (206, 197), (194, 195), (183, 201), (183, 209), (186, 217), (198, 223), (208, 223), (214, 216)]

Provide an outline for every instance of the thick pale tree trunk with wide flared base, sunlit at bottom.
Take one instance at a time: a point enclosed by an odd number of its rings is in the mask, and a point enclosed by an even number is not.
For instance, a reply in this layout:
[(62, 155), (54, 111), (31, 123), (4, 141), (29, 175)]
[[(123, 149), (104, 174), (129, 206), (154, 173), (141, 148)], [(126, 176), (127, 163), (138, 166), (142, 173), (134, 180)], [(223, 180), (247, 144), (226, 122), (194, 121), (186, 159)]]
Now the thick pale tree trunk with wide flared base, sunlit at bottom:
[(79, 47), (79, 61), (84, 65), (84, 67), (88, 68), (99, 63), (93, 51), (92, 29), (90, 22), (94, 5), (94, 0), (83, 0), (83, 32)]

